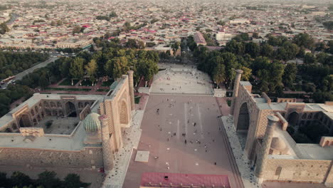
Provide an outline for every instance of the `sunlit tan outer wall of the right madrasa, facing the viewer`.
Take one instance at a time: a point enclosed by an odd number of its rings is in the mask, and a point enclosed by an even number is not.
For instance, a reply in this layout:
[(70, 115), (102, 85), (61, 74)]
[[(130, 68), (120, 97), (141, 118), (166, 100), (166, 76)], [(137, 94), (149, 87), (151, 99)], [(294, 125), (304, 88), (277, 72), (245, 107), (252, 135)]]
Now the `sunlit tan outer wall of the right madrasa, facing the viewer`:
[[(295, 182), (325, 182), (332, 177), (331, 160), (278, 160), (268, 159), (265, 166), (265, 180)], [(327, 179), (328, 181), (331, 181)]]

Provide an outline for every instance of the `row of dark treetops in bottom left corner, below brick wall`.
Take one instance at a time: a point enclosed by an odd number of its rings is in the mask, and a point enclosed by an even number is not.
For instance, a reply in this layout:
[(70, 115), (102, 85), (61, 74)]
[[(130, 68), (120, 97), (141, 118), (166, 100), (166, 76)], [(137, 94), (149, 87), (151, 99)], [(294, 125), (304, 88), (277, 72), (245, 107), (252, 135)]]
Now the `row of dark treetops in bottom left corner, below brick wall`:
[(10, 178), (6, 173), (0, 172), (1, 187), (4, 188), (80, 188), (88, 187), (90, 183), (80, 181), (78, 174), (68, 174), (63, 181), (56, 177), (56, 172), (44, 171), (38, 174), (38, 179), (33, 180), (22, 172), (13, 172)]

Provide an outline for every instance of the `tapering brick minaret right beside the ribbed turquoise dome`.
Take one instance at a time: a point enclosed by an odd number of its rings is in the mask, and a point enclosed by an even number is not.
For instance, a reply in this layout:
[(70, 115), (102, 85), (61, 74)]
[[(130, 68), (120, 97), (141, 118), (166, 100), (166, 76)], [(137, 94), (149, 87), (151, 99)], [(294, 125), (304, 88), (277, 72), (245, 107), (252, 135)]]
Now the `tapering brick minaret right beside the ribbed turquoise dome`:
[(99, 117), (102, 126), (102, 155), (105, 171), (110, 171), (113, 167), (113, 154), (110, 142), (109, 126), (107, 124), (107, 116)]

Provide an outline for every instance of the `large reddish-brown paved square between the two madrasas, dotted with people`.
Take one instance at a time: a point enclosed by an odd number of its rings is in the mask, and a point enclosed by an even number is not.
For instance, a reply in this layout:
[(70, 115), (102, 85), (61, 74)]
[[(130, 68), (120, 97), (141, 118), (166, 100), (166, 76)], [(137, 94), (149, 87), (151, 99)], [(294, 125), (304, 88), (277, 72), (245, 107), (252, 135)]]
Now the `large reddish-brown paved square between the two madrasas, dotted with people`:
[(134, 162), (134, 150), (123, 188), (139, 187), (143, 172), (226, 174), (231, 187), (243, 187), (218, 115), (213, 97), (149, 95), (137, 148), (149, 161)]

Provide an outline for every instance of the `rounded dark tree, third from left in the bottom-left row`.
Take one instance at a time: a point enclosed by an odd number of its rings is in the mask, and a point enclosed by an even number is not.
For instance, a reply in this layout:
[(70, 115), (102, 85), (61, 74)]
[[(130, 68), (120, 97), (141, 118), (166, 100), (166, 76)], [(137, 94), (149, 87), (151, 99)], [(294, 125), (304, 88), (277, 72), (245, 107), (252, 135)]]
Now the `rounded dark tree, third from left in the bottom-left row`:
[(44, 188), (60, 187), (61, 182), (56, 178), (56, 172), (44, 171), (38, 174), (37, 183)]

